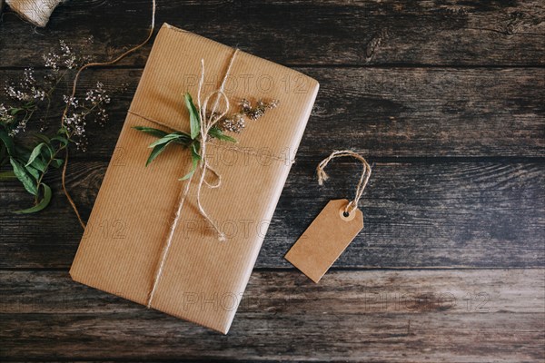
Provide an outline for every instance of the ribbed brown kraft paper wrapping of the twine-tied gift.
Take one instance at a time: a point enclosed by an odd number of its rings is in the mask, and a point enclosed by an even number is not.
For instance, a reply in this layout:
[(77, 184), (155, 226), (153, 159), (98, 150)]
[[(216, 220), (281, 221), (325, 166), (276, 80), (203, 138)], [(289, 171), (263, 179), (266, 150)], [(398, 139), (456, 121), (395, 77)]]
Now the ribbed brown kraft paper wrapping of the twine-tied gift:
[[(222, 83), (233, 48), (163, 25), (124, 122), (70, 270), (73, 280), (146, 305), (180, 193), (189, 152), (169, 146), (145, 167), (156, 139), (133, 129), (189, 132), (183, 93), (196, 102), (201, 60), (203, 97)], [(238, 52), (224, 92), (237, 107), (247, 98), (279, 106), (248, 120), (238, 143), (207, 143), (221, 186), (203, 186), (201, 201), (227, 240), (218, 241), (196, 206), (198, 173), (183, 204), (151, 308), (227, 333), (318, 92), (312, 78)], [(168, 126), (164, 127), (164, 126)], [(207, 174), (207, 178), (208, 178)]]

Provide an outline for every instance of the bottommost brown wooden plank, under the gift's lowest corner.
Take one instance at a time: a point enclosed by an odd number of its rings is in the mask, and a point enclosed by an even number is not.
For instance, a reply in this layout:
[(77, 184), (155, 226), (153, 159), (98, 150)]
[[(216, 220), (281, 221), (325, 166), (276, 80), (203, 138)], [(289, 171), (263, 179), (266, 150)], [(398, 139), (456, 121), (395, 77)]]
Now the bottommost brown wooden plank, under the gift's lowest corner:
[[(415, 319), (416, 318), (416, 319)], [(3, 361), (543, 361), (543, 314), (239, 314), (229, 336), (149, 312), (2, 316)], [(160, 327), (160, 330), (157, 327)]]

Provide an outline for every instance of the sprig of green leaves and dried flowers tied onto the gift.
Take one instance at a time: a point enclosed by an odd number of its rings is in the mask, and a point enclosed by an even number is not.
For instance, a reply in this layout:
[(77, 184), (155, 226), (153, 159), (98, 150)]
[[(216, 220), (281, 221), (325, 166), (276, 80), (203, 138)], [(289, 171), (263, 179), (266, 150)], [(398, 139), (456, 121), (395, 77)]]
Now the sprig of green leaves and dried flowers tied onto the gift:
[[(155, 129), (152, 127), (144, 126), (135, 126), (134, 129), (140, 132), (145, 132), (155, 137), (158, 137), (159, 140), (152, 142), (148, 147), (152, 149), (150, 156), (145, 162), (145, 166), (148, 166), (150, 162), (153, 162), (160, 153), (162, 153), (168, 145), (171, 143), (182, 145), (183, 148), (189, 149), (191, 151), (191, 160), (192, 160), (192, 169), (190, 172), (185, 174), (180, 181), (187, 180), (193, 176), (197, 168), (198, 162), (201, 161), (201, 141), (199, 140), (199, 134), (201, 130), (201, 118), (199, 115), (198, 108), (194, 105), (191, 94), (185, 93), (183, 95), (185, 106), (189, 111), (189, 121), (191, 133), (187, 132), (164, 132), (163, 130)], [(208, 131), (208, 135), (214, 139), (218, 139), (224, 142), (237, 142), (231, 136), (228, 136), (224, 131), (229, 132), (242, 132), (245, 126), (245, 116), (249, 117), (252, 120), (257, 120), (263, 116), (266, 110), (276, 108), (278, 106), (278, 101), (273, 100), (272, 102), (264, 102), (259, 100), (255, 107), (252, 107), (252, 103), (248, 100), (243, 99), (240, 105), (240, 112), (234, 113), (230, 116), (224, 116), (218, 121), (219, 127), (213, 126)]]

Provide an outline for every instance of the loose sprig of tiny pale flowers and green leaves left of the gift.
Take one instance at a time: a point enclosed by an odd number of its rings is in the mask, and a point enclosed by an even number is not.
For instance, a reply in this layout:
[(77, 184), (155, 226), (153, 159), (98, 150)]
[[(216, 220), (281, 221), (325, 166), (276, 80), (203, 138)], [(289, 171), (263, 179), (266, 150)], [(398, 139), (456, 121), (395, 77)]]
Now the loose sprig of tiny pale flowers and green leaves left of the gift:
[[(50, 168), (58, 169), (63, 165), (60, 154), (70, 145), (83, 151), (86, 149), (87, 123), (94, 120), (94, 123), (104, 125), (107, 121), (104, 106), (111, 99), (104, 91), (104, 84), (99, 82), (85, 93), (84, 99), (64, 95), (69, 113), (53, 134), (46, 132), (56, 86), (69, 70), (89, 61), (64, 41), (59, 45), (60, 53), (52, 51), (44, 55), (48, 72), (43, 77), (37, 77), (31, 68), (25, 69), (19, 82), (5, 85), (5, 95), (11, 100), (10, 104), (0, 103), (0, 168), (11, 166), (11, 170), (0, 172), (0, 181), (18, 180), (35, 196), (33, 207), (16, 213), (41, 211), (49, 204), (52, 191), (43, 182), (45, 174)], [(29, 123), (39, 126), (39, 132), (29, 135), (34, 136), (35, 141), (30, 141), (25, 132)]]

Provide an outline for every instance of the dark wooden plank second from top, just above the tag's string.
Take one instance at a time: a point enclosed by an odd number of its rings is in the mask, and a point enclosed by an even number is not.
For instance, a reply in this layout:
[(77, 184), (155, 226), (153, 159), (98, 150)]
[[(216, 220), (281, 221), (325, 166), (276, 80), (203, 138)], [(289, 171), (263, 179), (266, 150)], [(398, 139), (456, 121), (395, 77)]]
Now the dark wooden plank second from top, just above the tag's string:
[[(300, 160), (314, 160), (341, 148), (369, 158), (545, 155), (541, 92), (545, 69), (298, 70), (321, 83)], [(98, 80), (112, 90), (126, 86), (125, 92), (113, 95), (110, 123), (104, 128), (88, 126), (87, 157), (111, 157), (141, 72), (116, 69), (84, 74), (82, 93)], [(19, 74), (0, 71), (0, 83)], [(56, 110), (62, 109), (60, 98)], [(282, 102), (282, 95), (279, 98)], [(0, 103), (5, 101), (0, 98)], [(50, 124), (56, 125), (59, 118), (52, 116)]]

